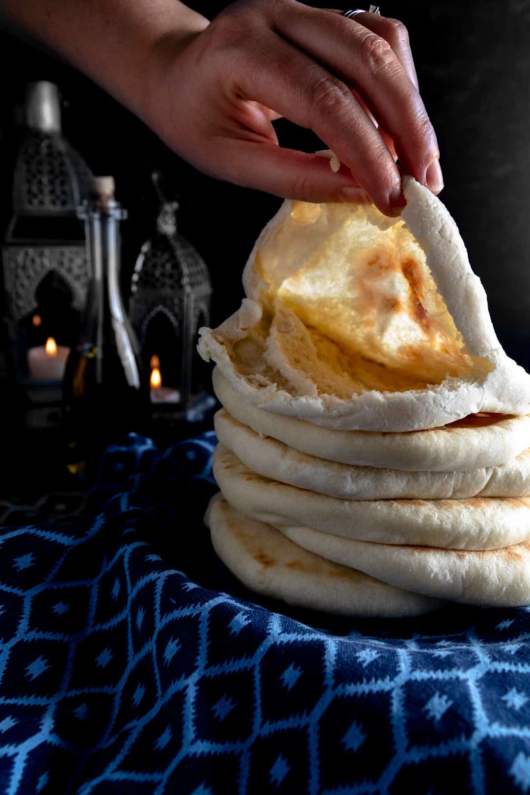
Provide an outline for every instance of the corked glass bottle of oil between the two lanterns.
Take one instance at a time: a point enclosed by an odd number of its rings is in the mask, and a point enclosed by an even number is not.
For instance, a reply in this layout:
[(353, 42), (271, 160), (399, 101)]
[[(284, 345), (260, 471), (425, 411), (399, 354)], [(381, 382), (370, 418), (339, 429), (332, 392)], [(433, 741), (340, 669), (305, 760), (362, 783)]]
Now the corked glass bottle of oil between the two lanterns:
[(92, 180), (79, 217), (86, 227), (91, 282), (79, 343), (64, 373), (64, 434), (72, 475), (90, 473), (108, 444), (144, 430), (149, 411), (149, 384), (119, 286), (119, 224), (126, 211), (114, 199), (113, 177)]

